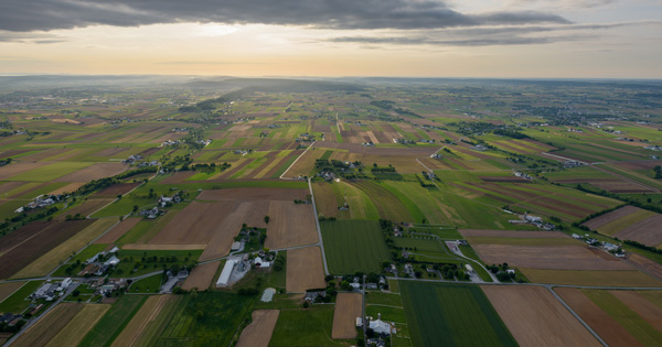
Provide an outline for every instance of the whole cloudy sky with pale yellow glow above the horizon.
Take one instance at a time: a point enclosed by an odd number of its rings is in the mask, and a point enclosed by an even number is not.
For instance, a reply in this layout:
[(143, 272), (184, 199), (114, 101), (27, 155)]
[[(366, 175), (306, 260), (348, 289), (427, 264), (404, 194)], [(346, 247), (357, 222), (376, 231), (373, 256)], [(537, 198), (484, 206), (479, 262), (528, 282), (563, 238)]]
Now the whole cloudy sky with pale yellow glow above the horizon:
[(2, 0), (0, 74), (662, 78), (662, 0)]

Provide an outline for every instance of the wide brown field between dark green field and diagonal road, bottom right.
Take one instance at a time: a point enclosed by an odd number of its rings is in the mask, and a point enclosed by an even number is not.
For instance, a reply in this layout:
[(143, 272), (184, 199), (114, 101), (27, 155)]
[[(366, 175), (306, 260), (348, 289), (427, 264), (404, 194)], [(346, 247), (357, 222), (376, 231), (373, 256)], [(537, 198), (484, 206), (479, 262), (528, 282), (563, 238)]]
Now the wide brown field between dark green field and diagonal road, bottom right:
[(544, 288), (481, 288), (522, 346), (601, 346)]

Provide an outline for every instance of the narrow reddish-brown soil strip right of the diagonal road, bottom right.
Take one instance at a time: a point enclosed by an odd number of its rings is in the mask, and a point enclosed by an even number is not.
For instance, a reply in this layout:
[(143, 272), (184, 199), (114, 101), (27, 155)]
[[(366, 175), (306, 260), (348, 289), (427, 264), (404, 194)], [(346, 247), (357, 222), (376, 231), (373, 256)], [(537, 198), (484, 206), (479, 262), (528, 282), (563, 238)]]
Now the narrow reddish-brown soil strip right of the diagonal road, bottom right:
[(610, 346), (640, 346), (626, 328), (588, 299), (581, 290), (558, 288), (554, 290), (575, 313)]

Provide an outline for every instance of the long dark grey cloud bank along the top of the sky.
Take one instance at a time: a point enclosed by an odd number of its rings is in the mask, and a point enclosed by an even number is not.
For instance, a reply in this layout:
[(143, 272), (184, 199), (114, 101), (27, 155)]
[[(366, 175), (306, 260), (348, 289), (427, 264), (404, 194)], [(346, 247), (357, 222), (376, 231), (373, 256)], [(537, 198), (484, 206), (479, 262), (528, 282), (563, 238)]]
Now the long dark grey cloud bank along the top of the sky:
[(35, 31), (95, 24), (156, 23), (302, 25), (322, 29), (440, 29), (569, 23), (552, 13), (460, 13), (436, 0), (2, 0), (0, 30)]

